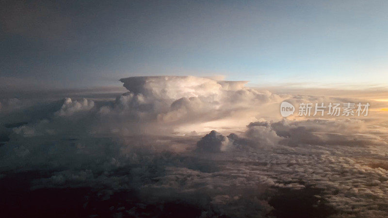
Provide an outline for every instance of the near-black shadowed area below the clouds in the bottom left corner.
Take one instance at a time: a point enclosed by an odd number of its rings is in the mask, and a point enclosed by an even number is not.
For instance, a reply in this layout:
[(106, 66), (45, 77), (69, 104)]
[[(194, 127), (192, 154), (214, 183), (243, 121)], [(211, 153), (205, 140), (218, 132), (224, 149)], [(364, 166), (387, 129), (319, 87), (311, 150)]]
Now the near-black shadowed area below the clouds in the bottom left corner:
[[(90, 187), (40, 188), (30, 182), (42, 171), (8, 175), (0, 180), (2, 217), (199, 217), (201, 208), (187, 202), (146, 204), (136, 190), (115, 193), (109, 199)], [(49, 175), (49, 172), (47, 173)]]

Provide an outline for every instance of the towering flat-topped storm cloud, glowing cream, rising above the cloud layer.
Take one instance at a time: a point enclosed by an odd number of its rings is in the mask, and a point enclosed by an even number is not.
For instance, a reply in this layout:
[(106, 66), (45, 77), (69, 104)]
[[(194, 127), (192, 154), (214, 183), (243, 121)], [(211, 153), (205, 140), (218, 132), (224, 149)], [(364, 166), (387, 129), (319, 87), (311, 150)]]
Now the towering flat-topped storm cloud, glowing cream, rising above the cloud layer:
[(121, 81), (129, 93), (118, 97), (113, 107), (100, 109), (100, 113), (106, 117), (122, 114), (121, 119), (127, 121), (135, 119), (143, 125), (159, 126), (160, 134), (205, 133), (211, 128), (229, 126), (243, 129), (246, 123), (257, 120), (258, 114), (266, 113), (262, 109), (269, 105), (273, 108), (270, 113), (277, 114), (275, 102), (284, 98), (244, 87), (244, 81), (178, 76), (131, 77)]

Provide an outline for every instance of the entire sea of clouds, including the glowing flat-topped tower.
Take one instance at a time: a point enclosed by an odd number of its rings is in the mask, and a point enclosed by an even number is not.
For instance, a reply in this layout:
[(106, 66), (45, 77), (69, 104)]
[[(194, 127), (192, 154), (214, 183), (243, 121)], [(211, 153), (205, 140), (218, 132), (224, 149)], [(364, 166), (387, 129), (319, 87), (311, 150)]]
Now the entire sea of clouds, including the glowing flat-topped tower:
[[(203, 217), (280, 216), (294, 213), (281, 206), (289, 198), (312, 216), (387, 214), (384, 121), (282, 119), (285, 99), (331, 99), (244, 82), (122, 80), (129, 92), (115, 100), (1, 99), (0, 182), (23, 175), (33, 191), (87, 187), (82, 205), (98, 199), (123, 216), (179, 206)], [(123, 193), (133, 201), (114, 200)]]

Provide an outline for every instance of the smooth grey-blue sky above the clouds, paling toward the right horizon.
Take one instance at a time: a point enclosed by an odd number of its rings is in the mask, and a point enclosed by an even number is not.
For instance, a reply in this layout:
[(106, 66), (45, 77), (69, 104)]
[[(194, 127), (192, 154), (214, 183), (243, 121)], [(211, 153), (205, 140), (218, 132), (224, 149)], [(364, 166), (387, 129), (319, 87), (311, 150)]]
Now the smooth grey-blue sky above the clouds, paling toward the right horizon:
[(388, 2), (1, 1), (0, 88), (178, 75), (251, 85), (388, 82)]

